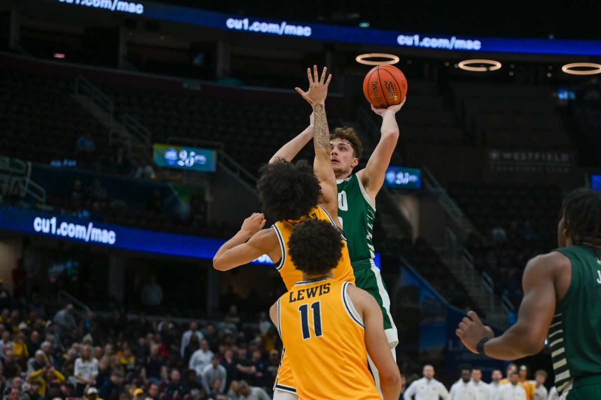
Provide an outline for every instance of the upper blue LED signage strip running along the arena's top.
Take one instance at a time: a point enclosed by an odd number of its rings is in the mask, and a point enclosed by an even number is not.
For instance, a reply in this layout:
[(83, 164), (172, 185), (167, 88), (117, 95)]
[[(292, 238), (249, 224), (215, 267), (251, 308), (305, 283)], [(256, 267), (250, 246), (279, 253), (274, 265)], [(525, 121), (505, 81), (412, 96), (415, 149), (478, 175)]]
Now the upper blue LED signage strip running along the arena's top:
[(436, 50), (473, 52), (536, 53), (563, 55), (601, 55), (601, 40), (463, 37), (457, 35), (424, 35), (417, 32), (395, 32), (382, 29), (299, 23), (260, 17), (204, 11), (150, 1), (121, 0), (46, 0), (57, 5), (138, 14), (145, 17), (207, 26), (228, 31), (249, 32), (282, 37), (310, 38), (344, 43), (379, 44)]

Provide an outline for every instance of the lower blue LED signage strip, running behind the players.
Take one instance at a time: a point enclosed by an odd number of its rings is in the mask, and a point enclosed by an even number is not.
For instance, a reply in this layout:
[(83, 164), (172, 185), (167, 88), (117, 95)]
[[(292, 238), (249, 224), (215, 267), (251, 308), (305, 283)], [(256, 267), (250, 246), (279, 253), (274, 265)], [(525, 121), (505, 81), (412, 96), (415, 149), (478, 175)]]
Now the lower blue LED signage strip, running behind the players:
[[(225, 243), (222, 239), (147, 231), (15, 207), (0, 207), (0, 229), (113, 249), (208, 259)], [(380, 267), (379, 254), (375, 261)], [(252, 264), (273, 265), (266, 255)]]

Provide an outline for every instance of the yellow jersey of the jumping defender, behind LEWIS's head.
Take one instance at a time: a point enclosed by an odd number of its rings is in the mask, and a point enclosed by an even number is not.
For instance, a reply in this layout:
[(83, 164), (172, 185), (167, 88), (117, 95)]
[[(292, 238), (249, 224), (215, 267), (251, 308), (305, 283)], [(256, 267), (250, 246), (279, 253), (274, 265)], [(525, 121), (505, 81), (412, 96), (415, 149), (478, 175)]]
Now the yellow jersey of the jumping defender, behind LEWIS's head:
[[(309, 211), (309, 216), (311, 218), (329, 221), (332, 223), (332, 225), (336, 226), (334, 220), (332, 220), (332, 217), (328, 214), (328, 211), (326, 211), (320, 205), (317, 205), (311, 211)], [(280, 259), (276, 268), (278, 269), (279, 274), (281, 274), (282, 280), (284, 280), (284, 285), (286, 285), (288, 290), (294, 286), (294, 283), (301, 282), (302, 280), (302, 272), (294, 267), (294, 264), (288, 255), (288, 239), (290, 239), (292, 229), (296, 223), (298, 222), (291, 223), (287, 221), (279, 221), (273, 224), (273, 229), (275, 229), (276, 234), (278, 234), (279, 246), (282, 250), (282, 258)], [(353, 274), (353, 267), (350, 265), (349, 247), (346, 244), (346, 238), (344, 238), (344, 235), (341, 234), (341, 237), (344, 246), (342, 249), (342, 258), (338, 262), (337, 267), (334, 268), (334, 279), (341, 280), (343, 282), (353, 282), (354, 284), (355, 274)]]

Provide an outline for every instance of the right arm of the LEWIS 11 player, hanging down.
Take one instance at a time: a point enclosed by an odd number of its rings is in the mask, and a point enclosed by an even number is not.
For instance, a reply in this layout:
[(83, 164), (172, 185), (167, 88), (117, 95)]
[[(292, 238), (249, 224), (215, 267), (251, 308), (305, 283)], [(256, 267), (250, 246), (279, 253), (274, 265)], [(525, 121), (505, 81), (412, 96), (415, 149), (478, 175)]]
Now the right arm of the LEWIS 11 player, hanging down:
[(363, 289), (347, 285), (347, 291), (365, 326), (365, 347), (380, 375), (380, 389), (384, 400), (397, 400), (401, 393), (401, 374), (392, 358), (384, 333), (382, 311), (376, 299)]

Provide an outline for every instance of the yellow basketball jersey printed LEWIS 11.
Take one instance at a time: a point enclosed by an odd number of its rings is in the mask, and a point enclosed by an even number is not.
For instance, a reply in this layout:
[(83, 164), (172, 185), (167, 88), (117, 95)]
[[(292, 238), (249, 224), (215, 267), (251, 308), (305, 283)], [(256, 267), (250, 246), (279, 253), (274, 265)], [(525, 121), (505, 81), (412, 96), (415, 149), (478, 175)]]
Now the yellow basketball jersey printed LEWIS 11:
[(302, 400), (382, 399), (367, 367), (350, 282), (298, 282), (278, 300), (278, 329)]

